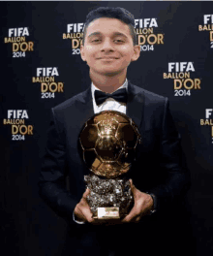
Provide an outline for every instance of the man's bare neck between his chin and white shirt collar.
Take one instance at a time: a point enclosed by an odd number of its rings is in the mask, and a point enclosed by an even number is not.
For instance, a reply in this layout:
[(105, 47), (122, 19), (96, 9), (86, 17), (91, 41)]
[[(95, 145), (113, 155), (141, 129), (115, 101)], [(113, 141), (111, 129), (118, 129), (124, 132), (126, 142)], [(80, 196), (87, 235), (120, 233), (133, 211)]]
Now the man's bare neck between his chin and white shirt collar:
[(90, 73), (90, 79), (93, 84), (100, 90), (106, 93), (112, 93), (117, 88), (119, 88), (126, 80), (126, 73), (119, 74), (112, 77), (103, 76), (103, 75), (93, 75)]

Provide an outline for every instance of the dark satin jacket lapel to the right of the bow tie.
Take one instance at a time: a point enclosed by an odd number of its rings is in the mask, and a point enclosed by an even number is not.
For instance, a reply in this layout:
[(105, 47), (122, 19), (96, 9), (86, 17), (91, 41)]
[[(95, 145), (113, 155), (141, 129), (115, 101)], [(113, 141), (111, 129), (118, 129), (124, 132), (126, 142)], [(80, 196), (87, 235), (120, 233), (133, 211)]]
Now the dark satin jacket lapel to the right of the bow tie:
[(131, 117), (139, 128), (143, 120), (144, 94), (141, 88), (128, 83), (127, 115)]

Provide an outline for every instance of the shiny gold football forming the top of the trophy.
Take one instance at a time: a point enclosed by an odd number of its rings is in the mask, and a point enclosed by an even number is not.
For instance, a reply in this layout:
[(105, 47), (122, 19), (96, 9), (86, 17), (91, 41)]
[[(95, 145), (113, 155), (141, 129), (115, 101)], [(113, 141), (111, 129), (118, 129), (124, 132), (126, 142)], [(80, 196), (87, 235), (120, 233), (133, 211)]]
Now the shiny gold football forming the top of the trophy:
[(137, 126), (126, 114), (106, 111), (95, 114), (79, 136), (83, 160), (97, 176), (127, 173), (141, 141)]

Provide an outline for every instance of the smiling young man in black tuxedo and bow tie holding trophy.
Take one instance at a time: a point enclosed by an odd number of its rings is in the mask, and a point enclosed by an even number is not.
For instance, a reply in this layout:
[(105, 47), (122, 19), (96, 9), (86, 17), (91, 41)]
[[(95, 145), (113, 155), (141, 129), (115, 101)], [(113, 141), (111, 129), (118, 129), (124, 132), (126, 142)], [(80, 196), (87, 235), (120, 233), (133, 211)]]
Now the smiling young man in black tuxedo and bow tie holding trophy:
[[(141, 246), (141, 253), (152, 255), (152, 243), (157, 244), (154, 238), (160, 234), (159, 216), (188, 189), (167, 98), (127, 80), (128, 66), (140, 53), (134, 25), (134, 16), (121, 8), (99, 8), (87, 16), (80, 53), (90, 68), (91, 87), (52, 109), (39, 185), (46, 204), (68, 222), (63, 255), (136, 255)], [(99, 90), (108, 96), (102, 103), (96, 98)], [(127, 102), (117, 102), (112, 94), (115, 91), (121, 97), (120, 92), (126, 94)], [(142, 137), (131, 169), (135, 205), (117, 225), (93, 219), (86, 201), (90, 191), (85, 190), (83, 182), (88, 170), (78, 154), (83, 124), (94, 113), (105, 110), (129, 115)], [(66, 176), (70, 191), (66, 189)], [(153, 211), (156, 213), (152, 215)]]

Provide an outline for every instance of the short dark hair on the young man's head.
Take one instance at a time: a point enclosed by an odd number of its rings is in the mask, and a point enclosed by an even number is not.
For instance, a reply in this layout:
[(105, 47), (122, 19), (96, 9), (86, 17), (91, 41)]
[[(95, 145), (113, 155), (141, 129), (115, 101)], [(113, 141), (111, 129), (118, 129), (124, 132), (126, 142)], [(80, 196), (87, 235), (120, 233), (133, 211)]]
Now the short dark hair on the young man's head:
[(85, 35), (86, 35), (86, 29), (91, 21), (94, 19), (98, 19), (100, 17), (110, 17), (110, 18), (117, 18), (124, 23), (128, 24), (130, 28), (130, 33), (133, 38), (133, 43), (134, 46), (137, 44), (137, 35), (135, 32), (135, 17), (128, 12), (126, 9), (121, 8), (121, 7), (99, 7), (96, 10), (91, 11), (87, 16), (86, 16), (86, 21), (84, 24), (84, 30), (83, 30), (83, 40), (82, 44), (84, 45), (85, 42)]

